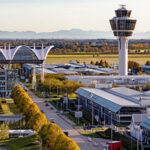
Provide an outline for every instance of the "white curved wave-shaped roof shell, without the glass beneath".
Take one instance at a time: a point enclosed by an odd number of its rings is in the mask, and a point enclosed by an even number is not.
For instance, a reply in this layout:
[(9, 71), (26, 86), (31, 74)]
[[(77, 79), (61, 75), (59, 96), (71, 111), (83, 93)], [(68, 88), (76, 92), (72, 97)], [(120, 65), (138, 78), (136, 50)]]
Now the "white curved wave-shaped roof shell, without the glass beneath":
[(53, 48), (54, 46), (47, 46), (43, 49), (32, 49), (28, 46), (24, 46), (24, 45), (20, 45), (17, 46), (13, 49), (7, 50), (7, 49), (0, 49), (0, 52), (2, 53), (3, 57), (6, 60), (13, 60), (16, 53), (21, 50), (22, 48), (27, 48), (28, 50), (30, 50), (31, 52), (33, 52), (35, 54), (35, 56), (37, 57), (38, 60), (45, 60), (49, 51)]

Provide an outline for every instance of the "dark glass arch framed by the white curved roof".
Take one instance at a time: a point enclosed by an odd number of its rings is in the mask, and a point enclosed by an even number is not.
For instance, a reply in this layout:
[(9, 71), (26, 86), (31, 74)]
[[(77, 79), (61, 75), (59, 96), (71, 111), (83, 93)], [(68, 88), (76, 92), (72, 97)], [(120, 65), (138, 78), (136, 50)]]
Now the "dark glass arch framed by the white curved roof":
[(30, 48), (22, 46), (15, 54), (13, 60), (38, 60), (38, 58)]

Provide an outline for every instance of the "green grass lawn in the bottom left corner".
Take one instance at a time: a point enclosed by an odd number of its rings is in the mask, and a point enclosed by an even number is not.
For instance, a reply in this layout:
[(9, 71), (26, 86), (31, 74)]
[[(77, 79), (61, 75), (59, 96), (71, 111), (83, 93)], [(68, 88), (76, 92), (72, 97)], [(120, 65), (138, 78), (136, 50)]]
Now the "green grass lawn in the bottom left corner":
[(34, 150), (40, 147), (39, 138), (33, 135), (25, 138), (0, 141), (0, 146), (6, 146), (9, 150)]

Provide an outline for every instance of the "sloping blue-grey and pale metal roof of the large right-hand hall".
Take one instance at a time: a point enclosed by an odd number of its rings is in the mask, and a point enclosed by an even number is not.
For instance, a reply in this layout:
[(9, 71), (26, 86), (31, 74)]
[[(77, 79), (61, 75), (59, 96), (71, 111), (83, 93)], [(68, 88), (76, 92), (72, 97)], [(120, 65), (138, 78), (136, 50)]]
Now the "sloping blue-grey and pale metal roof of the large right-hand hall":
[(110, 93), (110, 91), (95, 89), (95, 88), (79, 88), (76, 90), (76, 94), (79, 94), (94, 103), (97, 103), (110, 111), (118, 112), (122, 107), (140, 107), (133, 99), (125, 95), (116, 95)]

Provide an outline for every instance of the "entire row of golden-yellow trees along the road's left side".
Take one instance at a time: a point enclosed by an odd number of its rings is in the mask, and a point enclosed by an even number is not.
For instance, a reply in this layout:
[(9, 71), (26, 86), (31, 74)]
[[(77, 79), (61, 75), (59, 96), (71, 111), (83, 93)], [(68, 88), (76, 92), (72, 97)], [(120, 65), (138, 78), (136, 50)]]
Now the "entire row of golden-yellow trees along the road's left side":
[(43, 147), (53, 150), (80, 150), (78, 145), (67, 137), (59, 126), (47, 122), (44, 113), (33, 103), (21, 86), (16, 86), (11, 94), (15, 104), (25, 116), (28, 128), (37, 131), (42, 139)]

